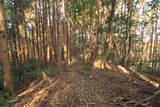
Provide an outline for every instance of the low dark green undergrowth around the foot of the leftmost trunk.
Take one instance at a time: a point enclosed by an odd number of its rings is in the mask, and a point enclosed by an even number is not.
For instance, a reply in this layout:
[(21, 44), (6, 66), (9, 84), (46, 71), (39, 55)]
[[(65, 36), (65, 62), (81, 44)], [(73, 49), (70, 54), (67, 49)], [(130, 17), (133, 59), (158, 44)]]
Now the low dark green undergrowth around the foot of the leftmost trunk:
[[(30, 77), (32, 79), (36, 79), (38, 77), (42, 77), (42, 72), (44, 72), (47, 76), (51, 75), (54, 72), (54, 70), (52, 70), (52, 72), (49, 72), (47, 68), (37, 69), (35, 68), (35, 66), (31, 64), (19, 66), (16, 68), (12, 67), (12, 71), (13, 71), (14, 84), (18, 82), (22, 82), (21, 78), (24, 78), (24, 77), (27, 77), (27, 78)], [(16, 98), (16, 92), (12, 93), (12, 95), (9, 95), (8, 93), (5, 92), (5, 90), (2, 90), (2, 86), (3, 86), (2, 81), (3, 81), (2, 68), (0, 66), (0, 107), (14, 107), (13, 103), (9, 103), (6, 105), (6, 102), (14, 100)]]

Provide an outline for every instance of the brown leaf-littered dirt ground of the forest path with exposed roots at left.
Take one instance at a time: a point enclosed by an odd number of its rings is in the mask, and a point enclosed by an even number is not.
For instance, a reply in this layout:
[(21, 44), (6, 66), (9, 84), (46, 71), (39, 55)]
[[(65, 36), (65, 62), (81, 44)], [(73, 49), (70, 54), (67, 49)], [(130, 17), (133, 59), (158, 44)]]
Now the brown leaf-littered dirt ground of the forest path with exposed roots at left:
[[(15, 107), (133, 107), (158, 89), (118, 70), (75, 62), (54, 80), (47, 77), (18, 94)], [(137, 107), (160, 107), (160, 95)]]

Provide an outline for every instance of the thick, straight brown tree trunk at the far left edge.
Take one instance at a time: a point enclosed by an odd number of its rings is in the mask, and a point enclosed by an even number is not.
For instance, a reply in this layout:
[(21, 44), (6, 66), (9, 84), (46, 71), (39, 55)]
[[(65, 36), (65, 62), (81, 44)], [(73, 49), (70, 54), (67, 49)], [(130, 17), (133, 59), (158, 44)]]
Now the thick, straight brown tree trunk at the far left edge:
[(12, 74), (10, 69), (10, 57), (7, 43), (7, 31), (5, 26), (5, 13), (3, 0), (0, 0), (0, 54), (3, 68), (3, 88), (7, 92), (13, 92)]

